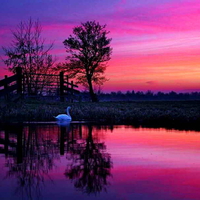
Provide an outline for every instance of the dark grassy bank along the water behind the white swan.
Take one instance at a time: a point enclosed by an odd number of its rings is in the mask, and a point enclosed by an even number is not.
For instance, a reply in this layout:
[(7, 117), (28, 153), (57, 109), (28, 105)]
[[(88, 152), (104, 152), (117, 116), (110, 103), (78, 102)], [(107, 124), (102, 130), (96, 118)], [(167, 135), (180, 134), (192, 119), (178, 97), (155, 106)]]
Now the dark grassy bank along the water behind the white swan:
[(199, 101), (61, 103), (29, 100), (1, 104), (0, 121), (53, 121), (53, 116), (65, 113), (69, 105), (73, 120), (200, 130)]

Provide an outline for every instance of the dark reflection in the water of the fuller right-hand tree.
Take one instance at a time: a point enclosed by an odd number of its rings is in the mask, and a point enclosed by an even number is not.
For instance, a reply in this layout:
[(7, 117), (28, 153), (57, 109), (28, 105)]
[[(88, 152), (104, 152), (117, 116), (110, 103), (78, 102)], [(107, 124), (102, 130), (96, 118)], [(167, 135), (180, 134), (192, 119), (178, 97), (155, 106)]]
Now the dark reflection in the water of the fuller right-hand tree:
[(73, 145), (69, 159), (72, 162), (67, 166), (65, 176), (73, 180), (77, 189), (87, 194), (106, 191), (107, 179), (111, 176), (111, 157), (106, 153), (105, 144), (93, 139), (92, 126), (88, 126), (86, 139)]

